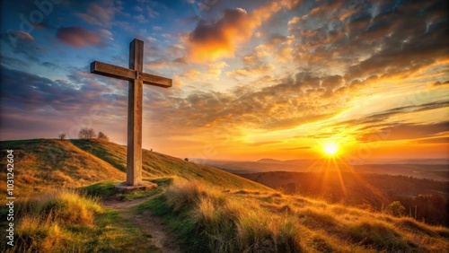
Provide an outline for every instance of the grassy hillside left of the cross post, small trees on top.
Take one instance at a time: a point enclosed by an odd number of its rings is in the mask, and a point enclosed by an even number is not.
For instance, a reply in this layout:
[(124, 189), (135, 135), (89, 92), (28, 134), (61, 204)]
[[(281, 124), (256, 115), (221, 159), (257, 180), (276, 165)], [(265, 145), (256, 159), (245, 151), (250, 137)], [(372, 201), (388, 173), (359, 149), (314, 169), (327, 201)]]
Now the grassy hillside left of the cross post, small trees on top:
[[(0, 164), (6, 150), (14, 154), (14, 194), (28, 196), (54, 187), (81, 187), (103, 180), (124, 180), (126, 174), (68, 141), (33, 139), (0, 142)], [(1, 173), (2, 192), (5, 173)]]

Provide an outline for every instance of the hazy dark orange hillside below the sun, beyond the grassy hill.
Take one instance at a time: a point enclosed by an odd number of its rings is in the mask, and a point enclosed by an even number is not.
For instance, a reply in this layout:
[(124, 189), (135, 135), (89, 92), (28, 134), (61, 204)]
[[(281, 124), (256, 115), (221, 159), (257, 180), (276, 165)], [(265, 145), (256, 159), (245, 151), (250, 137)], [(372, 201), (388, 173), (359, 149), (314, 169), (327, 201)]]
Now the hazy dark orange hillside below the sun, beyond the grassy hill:
[(411, 217), (429, 224), (449, 226), (449, 182), (406, 176), (356, 172), (272, 171), (240, 174), (269, 188), (381, 211), (400, 201)]

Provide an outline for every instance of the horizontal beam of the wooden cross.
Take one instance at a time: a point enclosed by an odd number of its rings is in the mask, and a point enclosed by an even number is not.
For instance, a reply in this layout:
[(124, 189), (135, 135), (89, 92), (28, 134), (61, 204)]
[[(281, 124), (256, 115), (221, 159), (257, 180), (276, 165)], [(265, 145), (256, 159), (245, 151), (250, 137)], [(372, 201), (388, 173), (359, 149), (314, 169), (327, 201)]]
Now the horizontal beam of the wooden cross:
[(141, 80), (145, 84), (159, 86), (163, 88), (172, 87), (172, 79), (157, 76), (154, 74), (140, 73), (133, 69), (121, 67), (118, 65), (110, 65), (98, 61), (91, 63), (91, 73), (101, 74), (104, 76), (114, 77), (121, 80)]

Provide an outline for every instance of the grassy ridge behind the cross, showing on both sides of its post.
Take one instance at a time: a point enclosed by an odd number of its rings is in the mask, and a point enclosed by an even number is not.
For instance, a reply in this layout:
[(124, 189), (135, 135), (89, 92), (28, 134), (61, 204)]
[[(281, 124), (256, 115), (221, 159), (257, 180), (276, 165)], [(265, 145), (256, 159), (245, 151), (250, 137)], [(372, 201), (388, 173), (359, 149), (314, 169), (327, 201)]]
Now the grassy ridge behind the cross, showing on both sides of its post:
[[(6, 149), (14, 151), (16, 194), (38, 193), (49, 187), (81, 187), (104, 180), (126, 179), (126, 146), (98, 140), (32, 139), (0, 142), (5, 168)], [(226, 188), (267, 189), (223, 170), (143, 150), (143, 177), (179, 176)], [(5, 190), (5, 173), (0, 175)], [(25, 193), (26, 192), (26, 193)]]

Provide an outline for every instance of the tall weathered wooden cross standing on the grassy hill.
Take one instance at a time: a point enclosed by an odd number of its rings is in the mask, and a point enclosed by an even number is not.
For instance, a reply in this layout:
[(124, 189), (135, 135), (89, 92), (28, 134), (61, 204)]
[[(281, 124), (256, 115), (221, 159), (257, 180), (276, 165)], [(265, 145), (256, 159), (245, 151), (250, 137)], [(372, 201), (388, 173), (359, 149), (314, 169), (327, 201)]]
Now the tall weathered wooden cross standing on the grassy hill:
[(129, 82), (128, 87), (128, 149), (127, 184), (142, 184), (142, 100), (143, 83), (163, 88), (172, 87), (172, 79), (146, 74), (144, 70), (144, 41), (129, 43), (129, 68), (94, 61), (91, 73)]

